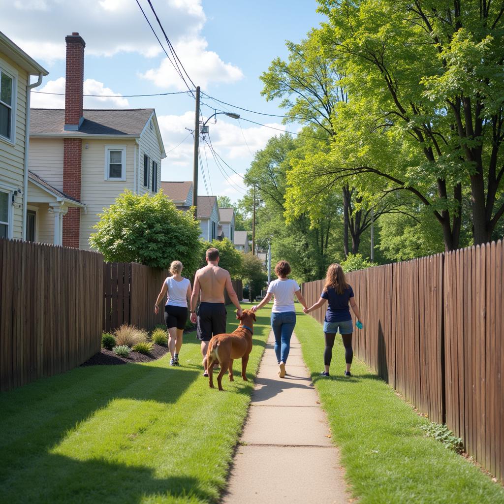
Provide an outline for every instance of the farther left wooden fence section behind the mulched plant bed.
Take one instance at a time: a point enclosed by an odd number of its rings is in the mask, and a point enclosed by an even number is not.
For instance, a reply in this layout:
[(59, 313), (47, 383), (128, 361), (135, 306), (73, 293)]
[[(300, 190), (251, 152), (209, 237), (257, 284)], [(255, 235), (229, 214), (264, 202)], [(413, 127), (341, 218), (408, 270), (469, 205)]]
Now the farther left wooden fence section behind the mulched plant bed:
[[(153, 329), (164, 324), (164, 308), (154, 313), (154, 303), (168, 270), (137, 263), (103, 263), (103, 331), (114, 331), (121, 324)], [(238, 299), (243, 297), (241, 280), (232, 281)], [(191, 281), (194, 285), (194, 281)], [(226, 304), (231, 300), (224, 293)], [(166, 301), (166, 299), (165, 299)]]

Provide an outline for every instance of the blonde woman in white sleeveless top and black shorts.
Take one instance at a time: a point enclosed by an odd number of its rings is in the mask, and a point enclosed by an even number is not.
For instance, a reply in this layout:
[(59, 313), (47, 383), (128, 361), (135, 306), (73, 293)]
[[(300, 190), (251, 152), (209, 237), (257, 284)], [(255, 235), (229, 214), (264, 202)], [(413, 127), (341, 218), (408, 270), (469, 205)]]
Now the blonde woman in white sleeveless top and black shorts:
[(182, 335), (187, 321), (187, 302), (191, 301), (191, 281), (183, 278), (182, 263), (173, 261), (170, 265), (171, 277), (166, 278), (154, 305), (154, 313), (159, 312), (159, 303), (168, 292), (164, 307), (164, 321), (168, 329), (168, 349), (171, 354), (170, 366), (178, 366), (178, 354), (182, 347)]

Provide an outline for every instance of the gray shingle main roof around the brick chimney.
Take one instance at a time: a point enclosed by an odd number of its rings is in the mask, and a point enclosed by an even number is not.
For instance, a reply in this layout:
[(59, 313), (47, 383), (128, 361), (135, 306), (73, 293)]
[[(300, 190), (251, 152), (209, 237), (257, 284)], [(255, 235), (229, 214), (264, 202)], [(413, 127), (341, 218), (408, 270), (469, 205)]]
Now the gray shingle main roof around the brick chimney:
[(30, 109), (30, 134), (34, 135), (131, 135), (139, 137), (153, 108), (84, 110), (78, 131), (65, 131), (65, 110)]

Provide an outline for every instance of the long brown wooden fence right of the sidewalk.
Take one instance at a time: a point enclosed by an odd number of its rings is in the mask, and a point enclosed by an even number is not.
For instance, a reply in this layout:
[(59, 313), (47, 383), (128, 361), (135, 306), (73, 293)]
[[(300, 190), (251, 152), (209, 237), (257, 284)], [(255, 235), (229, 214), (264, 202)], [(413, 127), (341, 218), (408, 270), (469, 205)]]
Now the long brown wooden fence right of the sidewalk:
[[(501, 480), (503, 263), (499, 241), (347, 274), (364, 324), (353, 333), (356, 355), (430, 419), (446, 421)], [(308, 305), (323, 286), (303, 284)], [(323, 323), (325, 309), (311, 314)]]

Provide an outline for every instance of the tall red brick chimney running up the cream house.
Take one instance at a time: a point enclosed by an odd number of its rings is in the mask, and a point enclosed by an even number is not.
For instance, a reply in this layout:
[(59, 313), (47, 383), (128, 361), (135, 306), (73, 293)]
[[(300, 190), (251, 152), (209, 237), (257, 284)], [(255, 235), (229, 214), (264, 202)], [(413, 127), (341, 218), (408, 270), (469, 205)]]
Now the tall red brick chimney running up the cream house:
[[(65, 38), (67, 42), (67, 75), (65, 90), (65, 130), (77, 131), (83, 121), (84, 47), (79, 33)], [(63, 192), (81, 201), (82, 140), (63, 140)], [(69, 208), (63, 217), (63, 245), (79, 248), (81, 209)]]

